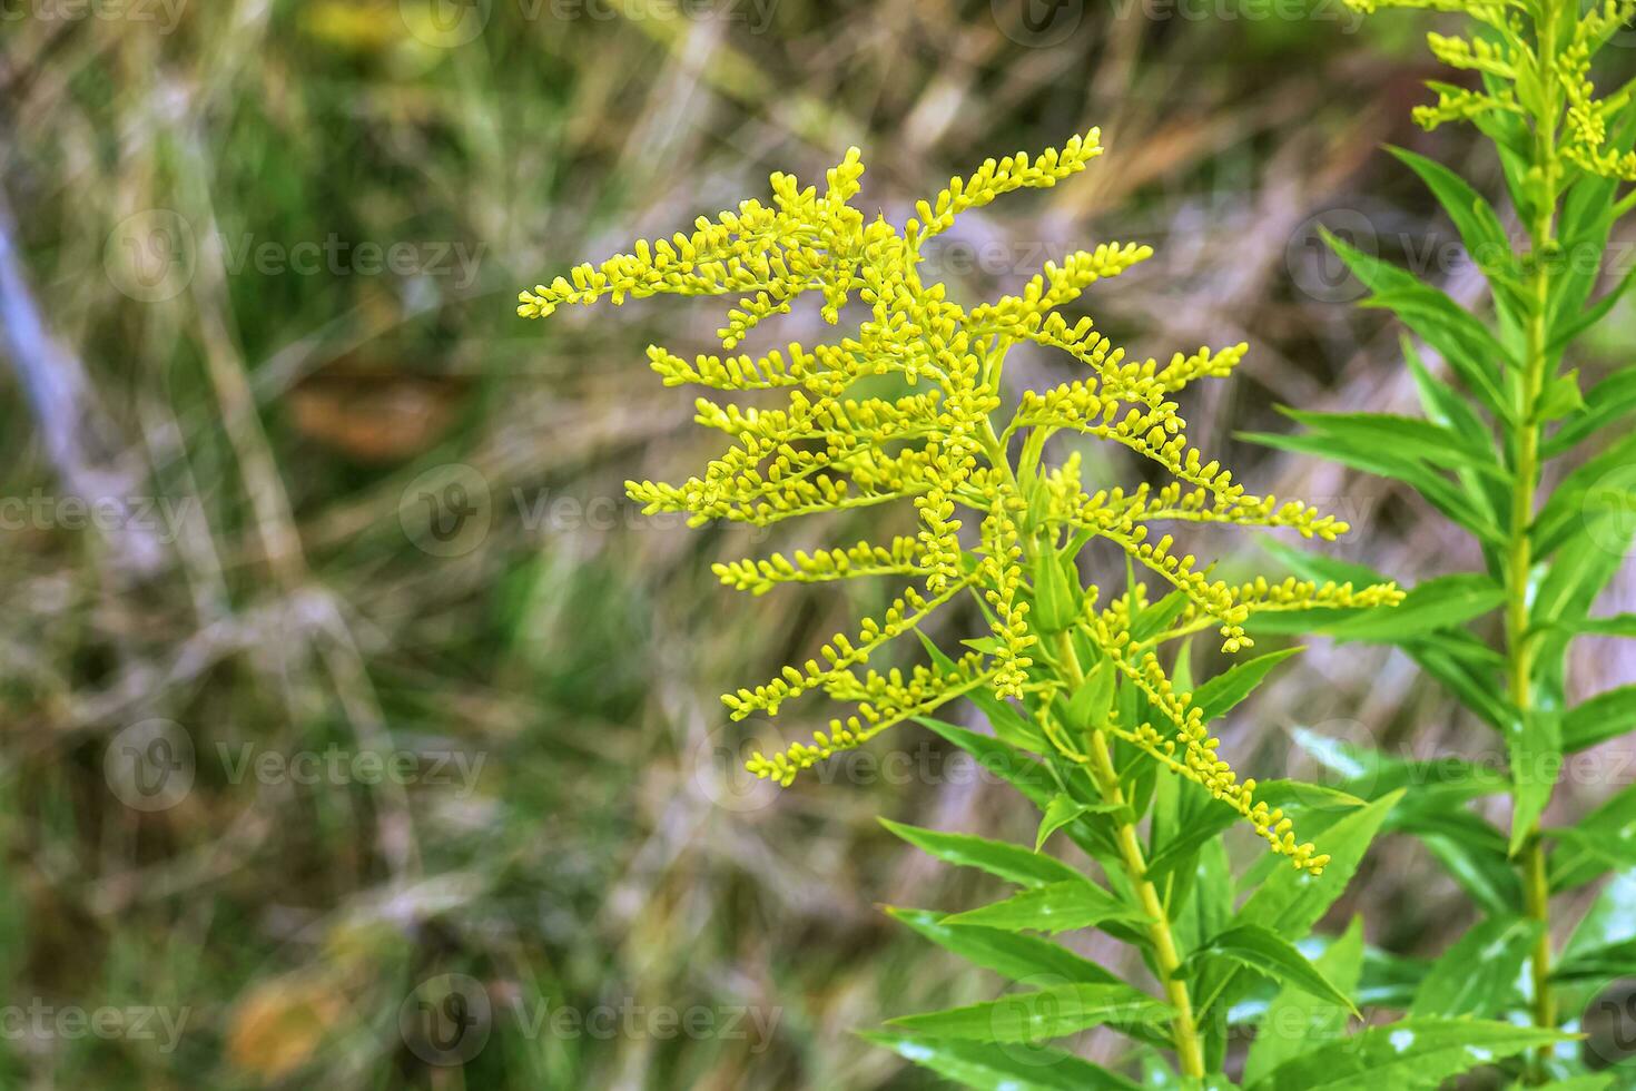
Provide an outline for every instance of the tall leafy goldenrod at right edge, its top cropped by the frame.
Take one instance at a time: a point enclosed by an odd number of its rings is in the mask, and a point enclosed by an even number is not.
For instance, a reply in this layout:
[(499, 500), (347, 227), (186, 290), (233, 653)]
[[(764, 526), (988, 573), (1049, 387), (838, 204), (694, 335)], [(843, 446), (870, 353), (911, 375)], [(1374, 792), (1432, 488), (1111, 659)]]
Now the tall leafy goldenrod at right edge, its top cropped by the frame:
[[(1260, 438), (1400, 481), (1476, 541), (1482, 571), (1420, 584), (1391, 618), (1337, 615), (1330, 630), (1402, 648), (1499, 734), (1508, 770), (1490, 775), (1458, 761), (1409, 767), (1307, 741), (1337, 767), (1364, 769), (1381, 785), (1418, 780), (1392, 821), (1417, 834), (1481, 909), (1440, 962), (1422, 967), (1414, 1009), (1577, 1027), (1598, 985), (1636, 973), (1636, 788), (1615, 792), (1572, 826), (1543, 821), (1564, 761), (1625, 734), (1636, 713), (1636, 687), (1575, 705), (1566, 677), (1575, 638), (1636, 636), (1636, 617), (1592, 615), (1636, 530), (1636, 370), (1590, 384), (1575, 366), (1580, 337), (1631, 283), (1626, 275), (1592, 301), (1608, 268), (1610, 232), (1636, 204), (1636, 193), (1620, 193), (1636, 182), (1636, 85), (1598, 93), (1593, 65), (1636, 3), (1353, 2), (1364, 11), (1432, 8), (1469, 18), (1467, 36), (1428, 34), (1459, 82), (1433, 82), (1435, 103), (1414, 116), (1425, 129), (1469, 123), (1492, 142), (1505, 211), (1435, 160), (1407, 150), (1397, 157), (1441, 203), (1489, 293), (1466, 309), (1425, 278), (1332, 239), (1373, 293), (1366, 303), (1392, 311), (1415, 335), (1404, 342), (1404, 360), (1423, 415), (1297, 412), (1306, 435)], [(1417, 343), (1441, 360), (1446, 378)], [(1510, 797), (1508, 831), (1471, 810), (1482, 795)], [(1610, 872), (1575, 927), (1553, 919), (1554, 898)], [(1449, 991), (1453, 975), (1469, 975), (1471, 986)], [(1605, 1066), (1607, 1058), (1559, 1044), (1512, 1075), (1613, 1086), (1587, 1073), (1587, 1057)]]

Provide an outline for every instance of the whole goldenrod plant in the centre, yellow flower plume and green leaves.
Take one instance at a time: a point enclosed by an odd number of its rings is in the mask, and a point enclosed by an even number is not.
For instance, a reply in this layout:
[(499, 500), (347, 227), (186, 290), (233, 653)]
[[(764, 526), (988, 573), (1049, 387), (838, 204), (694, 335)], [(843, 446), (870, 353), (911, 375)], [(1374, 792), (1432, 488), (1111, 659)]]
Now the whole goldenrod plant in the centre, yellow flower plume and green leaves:
[[(1332, 1088), (1387, 1086), (1382, 1071), (1435, 1080), (1549, 1040), (1432, 1017), (1399, 1024), (1396, 1037), (1364, 1030), (1337, 1050), (1356, 1011), (1361, 934), (1355, 927), (1327, 944), (1317, 963), (1296, 944), (1342, 893), (1397, 795), (1364, 801), (1240, 779), (1211, 723), (1294, 649), (1245, 658), (1194, 684), (1189, 648), (1214, 630), (1220, 651), (1238, 656), (1252, 648), (1256, 620), (1284, 618), (1289, 628), (1306, 613), (1366, 612), (1402, 595), (1387, 581), (1229, 582), (1165, 530), (1229, 523), (1324, 541), (1346, 530), (1304, 502), (1250, 494), (1188, 442), (1175, 399), (1227, 376), (1245, 345), (1163, 363), (1127, 358), (1091, 319), (1065, 314), (1091, 285), (1150, 257), (1145, 245), (1076, 252), (1047, 263), (1019, 294), (973, 308), (928, 283), (926, 242), (955, 216), (1013, 190), (1054, 186), (1101, 150), (1093, 129), (1060, 150), (990, 159), (897, 227), (856, 206), (864, 167), (852, 149), (821, 190), (775, 173), (771, 204), (744, 201), (700, 218), (690, 234), (638, 242), (520, 296), (524, 317), (661, 293), (738, 299), (720, 329), (728, 355), (648, 350), (666, 384), (757, 401), (697, 401), (699, 424), (725, 433), (728, 448), (681, 484), (630, 483), (648, 512), (764, 527), (913, 505), (915, 533), (717, 566), (723, 584), (753, 594), (843, 579), (901, 587), (880, 617), (723, 697), (738, 720), (774, 716), (813, 690), (856, 705), (807, 743), (754, 754), (756, 775), (790, 785), (836, 751), (915, 721), (1000, 772), (1040, 813), (1026, 846), (888, 823), (931, 855), (1018, 888), (964, 913), (892, 913), (1032, 988), (895, 1019), (869, 1037), (946, 1078), (1019, 1089), (1135, 1086), (1040, 1045), (1096, 1026), (1129, 1035), (1139, 1053), (1129, 1065), (1144, 1065), (1148, 1081), (1225, 1086), (1229, 1030), (1248, 1017), (1243, 1009), (1273, 1012), (1283, 1026), (1245, 1060), (1252, 1086), (1270, 1089), (1312, 1086), (1315, 1073)], [(805, 293), (831, 324), (856, 314), (854, 332), (811, 348), (736, 352)], [(1006, 355), (1019, 343), (1057, 350), (1076, 378), (1009, 391)], [(1078, 450), (1057, 450), (1072, 448), (1072, 437), (1124, 448), (1162, 484), (1086, 481)], [(1101, 571), (1124, 574), (1121, 587), (1086, 584), (1081, 564), (1098, 559)], [(988, 631), (959, 651), (939, 648), (926, 622), (962, 597)], [(905, 640), (910, 633), (918, 640)], [(959, 698), (988, 733), (934, 718)], [(1235, 873), (1222, 834), (1238, 819), (1273, 855)], [(1297, 819), (1320, 831), (1314, 841), (1296, 834)], [(1054, 836), (1088, 854), (1099, 877), (1045, 852)], [(1090, 927), (1140, 952), (1157, 988), (1034, 936)]]

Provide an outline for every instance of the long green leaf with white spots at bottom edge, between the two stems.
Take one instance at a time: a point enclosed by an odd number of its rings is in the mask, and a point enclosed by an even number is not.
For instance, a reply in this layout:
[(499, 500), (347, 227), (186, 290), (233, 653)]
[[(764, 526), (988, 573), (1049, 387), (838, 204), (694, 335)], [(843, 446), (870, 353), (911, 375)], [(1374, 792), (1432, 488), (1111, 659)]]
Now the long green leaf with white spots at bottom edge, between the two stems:
[(1412, 1091), (1569, 1035), (1477, 1019), (1405, 1019), (1286, 1062), (1250, 1091)]

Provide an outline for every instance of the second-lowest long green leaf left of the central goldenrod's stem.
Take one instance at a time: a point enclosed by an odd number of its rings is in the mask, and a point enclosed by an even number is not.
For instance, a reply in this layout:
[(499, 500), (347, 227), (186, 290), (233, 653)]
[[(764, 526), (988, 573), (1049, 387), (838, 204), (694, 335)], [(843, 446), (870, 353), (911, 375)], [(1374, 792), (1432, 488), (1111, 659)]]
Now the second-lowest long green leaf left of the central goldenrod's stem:
[(1103, 1024), (1166, 1022), (1176, 1009), (1129, 985), (1054, 985), (985, 1004), (888, 1019), (887, 1026), (931, 1039), (1049, 1042)]

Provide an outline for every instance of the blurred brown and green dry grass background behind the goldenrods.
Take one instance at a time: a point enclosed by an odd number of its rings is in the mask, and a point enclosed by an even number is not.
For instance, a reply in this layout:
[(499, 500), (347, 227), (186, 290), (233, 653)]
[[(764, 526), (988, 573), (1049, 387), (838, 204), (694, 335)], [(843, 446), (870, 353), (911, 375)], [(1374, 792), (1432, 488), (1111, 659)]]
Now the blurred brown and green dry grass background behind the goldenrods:
[[(1163, 358), (1248, 340), (1184, 406), (1198, 440), (1412, 582), (1469, 561), (1438, 520), (1232, 437), (1412, 404), (1319, 222), (1477, 296), (1379, 150), (1495, 191), (1466, 134), (1409, 126), (1427, 75), (1414, 20), (1338, 0), (0, 0), (0, 1086), (931, 1086), (852, 1030), (996, 983), (877, 909), (973, 891), (875, 816), (1029, 816), (915, 731), (782, 795), (735, 774), (715, 695), (869, 604), (751, 602), (708, 564), (859, 530), (640, 519), (622, 483), (708, 445), (643, 347), (718, 316), (535, 326), (515, 291), (849, 144), (901, 219), (1099, 124), (1086, 175), (944, 240), (951, 288), (1157, 245), (1098, 321)], [(1629, 317), (1580, 366), (1628, 358)], [(1296, 726), (1492, 749), (1396, 653), (1325, 641), (1227, 746), (1317, 775)], [(1464, 900), (1399, 841), (1337, 914), (1440, 950)]]

